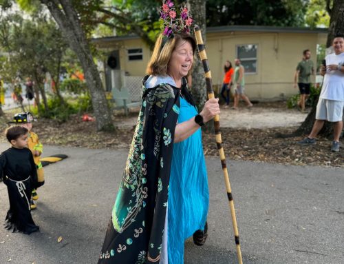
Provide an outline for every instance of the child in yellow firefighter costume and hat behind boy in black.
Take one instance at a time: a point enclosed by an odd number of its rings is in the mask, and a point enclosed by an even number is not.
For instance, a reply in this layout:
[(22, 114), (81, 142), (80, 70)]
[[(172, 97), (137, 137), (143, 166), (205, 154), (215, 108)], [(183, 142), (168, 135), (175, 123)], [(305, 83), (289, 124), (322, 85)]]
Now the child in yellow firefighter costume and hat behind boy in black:
[[(18, 125), (22, 125), (23, 127), (29, 130), (28, 136), (28, 148), (31, 150), (32, 155), (34, 156), (34, 163), (37, 167), (37, 176), (38, 176), (38, 185), (37, 187), (41, 187), (44, 184), (44, 170), (41, 163), (41, 154), (43, 152), (43, 145), (39, 141), (39, 136), (36, 133), (32, 132), (32, 121), (34, 121), (34, 117), (30, 112), (22, 112), (19, 114), (14, 114), (13, 122)], [(36, 192), (36, 189), (32, 190), (32, 199), (31, 209), (36, 209), (37, 205), (34, 201), (39, 199), (39, 195)]]

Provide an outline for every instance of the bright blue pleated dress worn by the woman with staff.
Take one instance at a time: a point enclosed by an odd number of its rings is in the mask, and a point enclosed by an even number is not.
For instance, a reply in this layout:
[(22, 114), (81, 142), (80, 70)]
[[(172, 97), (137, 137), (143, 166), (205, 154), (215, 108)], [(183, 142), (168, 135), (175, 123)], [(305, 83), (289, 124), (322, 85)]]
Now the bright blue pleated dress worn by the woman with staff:
[[(180, 98), (178, 123), (196, 114), (195, 107)], [(168, 199), (169, 264), (184, 263), (184, 242), (196, 230), (204, 229), (208, 205), (208, 178), (199, 129), (173, 145)]]

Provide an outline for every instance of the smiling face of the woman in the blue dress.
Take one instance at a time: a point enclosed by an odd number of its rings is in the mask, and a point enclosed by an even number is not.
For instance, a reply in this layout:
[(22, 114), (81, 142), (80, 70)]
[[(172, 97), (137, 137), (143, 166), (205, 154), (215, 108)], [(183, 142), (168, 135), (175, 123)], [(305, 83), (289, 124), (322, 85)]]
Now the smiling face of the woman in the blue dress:
[(193, 64), (193, 48), (189, 41), (180, 40), (175, 50), (173, 50), (169, 64), (167, 65), (167, 74), (173, 79), (182, 79), (185, 77), (191, 65)]

